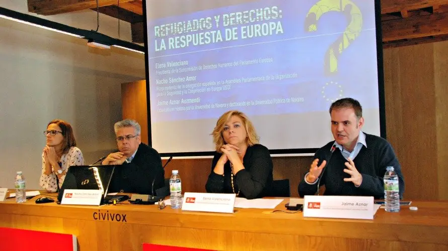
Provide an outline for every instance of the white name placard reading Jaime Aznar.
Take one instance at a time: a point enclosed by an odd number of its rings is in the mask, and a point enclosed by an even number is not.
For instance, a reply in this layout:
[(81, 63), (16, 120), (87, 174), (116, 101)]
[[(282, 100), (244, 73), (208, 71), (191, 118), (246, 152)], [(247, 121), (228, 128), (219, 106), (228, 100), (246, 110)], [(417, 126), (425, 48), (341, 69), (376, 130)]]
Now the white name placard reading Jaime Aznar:
[(304, 217), (373, 219), (374, 197), (305, 196)]

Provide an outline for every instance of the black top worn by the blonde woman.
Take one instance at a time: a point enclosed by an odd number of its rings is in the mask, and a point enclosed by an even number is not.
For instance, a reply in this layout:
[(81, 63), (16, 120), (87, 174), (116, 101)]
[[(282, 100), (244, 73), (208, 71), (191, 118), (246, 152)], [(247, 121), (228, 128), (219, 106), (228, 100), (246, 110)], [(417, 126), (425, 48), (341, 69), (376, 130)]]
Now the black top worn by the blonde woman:
[[(224, 165), (224, 175), (213, 172), (222, 154), (215, 153), (211, 164), (205, 190), (209, 193), (233, 193), (231, 184), (231, 167), (228, 161)], [(269, 150), (262, 145), (248, 147), (243, 158), (244, 169), (234, 176), (235, 192), (247, 199), (268, 196), (272, 189), (272, 159)]]

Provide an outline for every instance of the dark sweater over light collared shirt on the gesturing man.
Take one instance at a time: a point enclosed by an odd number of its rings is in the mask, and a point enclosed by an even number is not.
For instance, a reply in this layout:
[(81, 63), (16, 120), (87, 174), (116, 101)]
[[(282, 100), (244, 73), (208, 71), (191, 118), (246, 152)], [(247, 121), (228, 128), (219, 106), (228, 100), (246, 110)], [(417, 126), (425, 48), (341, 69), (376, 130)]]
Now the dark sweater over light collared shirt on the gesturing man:
[[(361, 132), (362, 133), (362, 132)], [(404, 179), (401, 173), (400, 163), (395, 156), (392, 146), (385, 139), (375, 135), (365, 134), (365, 146), (362, 146), (359, 154), (354, 158), (353, 163), (356, 169), (362, 175), (362, 183), (355, 187), (353, 182), (345, 182), (344, 178), (350, 178), (350, 175), (343, 170), (346, 168), (344, 163), (347, 160), (342, 156), (338, 148), (334, 151), (330, 161), (328, 161), (327, 170), (321, 177), (320, 185), (325, 185), (325, 195), (355, 195), (355, 196), (374, 196), (376, 199), (384, 198), (383, 177), (386, 173), (386, 167), (392, 166), (399, 179), (400, 198), (403, 197)], [(314, 155), (319, 159), (319, 164), (327, 160), (330, 156), (330, 149), (334, 141), (328, 143), (319, 149)], [(305, 177), (298, 185), (298, 194), (300, 196), (314, 195), (317, 190), (317, 182), (309, 185), (305, 182)]]

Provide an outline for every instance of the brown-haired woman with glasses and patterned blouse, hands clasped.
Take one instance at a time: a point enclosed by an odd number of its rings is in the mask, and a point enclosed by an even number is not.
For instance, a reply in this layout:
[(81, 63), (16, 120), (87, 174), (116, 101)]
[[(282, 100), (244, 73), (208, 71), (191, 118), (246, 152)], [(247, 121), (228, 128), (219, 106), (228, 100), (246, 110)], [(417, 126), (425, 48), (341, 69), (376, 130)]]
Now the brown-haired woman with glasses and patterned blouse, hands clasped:
[(47, 141), (42, 152), (39, 185), (49, 192), (56, 192), (62, 186), (69, 166), (84, 165), (83, 153), (76, 147), (70, 124), (64, 120), (50, 121), (44, 135)]

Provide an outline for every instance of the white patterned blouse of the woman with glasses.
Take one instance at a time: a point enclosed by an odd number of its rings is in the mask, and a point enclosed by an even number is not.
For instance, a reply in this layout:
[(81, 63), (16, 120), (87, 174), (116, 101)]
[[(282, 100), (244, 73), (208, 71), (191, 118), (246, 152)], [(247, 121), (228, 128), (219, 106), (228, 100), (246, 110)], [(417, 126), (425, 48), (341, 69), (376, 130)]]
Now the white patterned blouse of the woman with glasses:
[[(62, 172), (66, 172), (69, 166), (82, 166), (84, 165), (83, 153), (81, 153), (81, 150), (77, 147), (70, 147), (68, 153), (61, 156), (59, 163), (61, 163)], [(40, 176), (39, 185), (48, 192), (54, 193), (57, 191), (57, 176), (54, 174), (53, 168), (52, 171), (53, 173), (50, 175), (45, 175), (45, 159), (42, 153), (42, 175)], [(61, 188), (64, 179), (65, 175), (59, 178), (59, 188)]]

